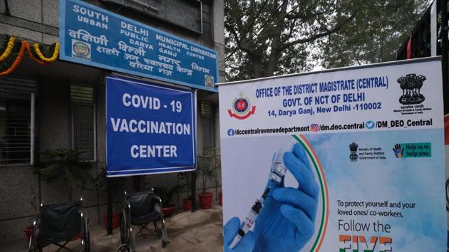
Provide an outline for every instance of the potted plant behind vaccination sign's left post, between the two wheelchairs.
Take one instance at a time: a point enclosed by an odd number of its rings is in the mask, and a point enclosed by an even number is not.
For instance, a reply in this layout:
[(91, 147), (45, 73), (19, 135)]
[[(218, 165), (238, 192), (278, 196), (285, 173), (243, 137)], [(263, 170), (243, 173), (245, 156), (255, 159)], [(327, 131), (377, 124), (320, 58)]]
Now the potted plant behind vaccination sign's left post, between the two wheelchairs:
[[(93, 191), (97, 191), (103, 194), (107, 193), (107, 184), (108, 184), (108, 178), (106, 177), (106, 169), (105, 167), (102, 168), (102, 171), (97, 174), (97, 176), (93, 179)], [(110, 186), (113, 188), (113, 194), (118, 194), (120, 192), (123, 192), (123, 178), (122, 177), (113, 177), (110, 178)], [(113, 222), (112, 226), (113, 229), (117, 229), (120, 224), (120, 209), (117, 211), (117, 207), (115, 205), (113, 206)], [(108, 229), (108, 214), (103, 213), (103, 223), (105, 225), (105, 229)]]

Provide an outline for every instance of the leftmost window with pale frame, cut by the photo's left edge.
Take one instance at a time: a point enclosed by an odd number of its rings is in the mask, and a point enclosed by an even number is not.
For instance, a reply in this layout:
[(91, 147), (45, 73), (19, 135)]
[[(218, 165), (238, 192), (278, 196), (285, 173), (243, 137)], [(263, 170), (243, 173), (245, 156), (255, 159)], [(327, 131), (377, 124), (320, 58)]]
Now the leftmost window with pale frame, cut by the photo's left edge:
[(0, 165), (33, 164), (36, 81), (0, 78)]

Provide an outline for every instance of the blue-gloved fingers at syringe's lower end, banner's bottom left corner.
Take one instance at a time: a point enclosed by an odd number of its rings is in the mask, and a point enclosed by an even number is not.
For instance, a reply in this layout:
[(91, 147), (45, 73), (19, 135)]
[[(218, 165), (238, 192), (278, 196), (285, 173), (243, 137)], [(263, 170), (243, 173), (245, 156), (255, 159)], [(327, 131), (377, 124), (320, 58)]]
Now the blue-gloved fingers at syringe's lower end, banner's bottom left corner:
[(234, 237), (237, 236), (239, 227), (240, 220), (237, 217), (230, 219), (229, 221), (227, 221), (227, 224), (224, 225), (224, 252), (250, 252), (254, 248), (254, 233), (252, 233), (252, 231), (249, 231), (247, 234), (245, 234), (242, 240), (240, 240), (239, 243), (234, 246), (234, 248), (229, 248), (229, 244), (231, 244), (232, 240), (234, 240)]

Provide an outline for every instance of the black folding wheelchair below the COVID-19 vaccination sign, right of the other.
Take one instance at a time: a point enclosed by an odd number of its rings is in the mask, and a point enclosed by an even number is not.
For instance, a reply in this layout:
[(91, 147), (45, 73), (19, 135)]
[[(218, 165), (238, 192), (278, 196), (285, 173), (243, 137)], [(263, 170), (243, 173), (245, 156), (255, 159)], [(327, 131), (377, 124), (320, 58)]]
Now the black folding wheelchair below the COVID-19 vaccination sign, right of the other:
[[(135, 234), (133, 225), (139, 226), (136, 233), (153, 222), (154, 231), (161, 239), (162, 248), (165, 248), (170, 240), (165, 229), (165, 221), (162, 214), (162, 200), (154, 194), (154, 190), (140, 191), (135, 194), (127, 194), (125, 191), (125, 202), (120, 216), (120, 241), (122, 245), (118, 252), (135, 252)], [(149, 229), (148, 229), (149, 230)]]

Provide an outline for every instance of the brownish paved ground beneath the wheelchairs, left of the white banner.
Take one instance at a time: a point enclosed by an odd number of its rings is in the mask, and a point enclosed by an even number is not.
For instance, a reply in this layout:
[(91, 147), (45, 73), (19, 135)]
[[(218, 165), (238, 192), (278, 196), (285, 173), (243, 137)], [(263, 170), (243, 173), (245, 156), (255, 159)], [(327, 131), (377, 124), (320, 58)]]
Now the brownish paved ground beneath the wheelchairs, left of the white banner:
[[(222, 207), (214, 206), (212, 209), (182, 212), (171, 218), (165, 219), (168, 236), (171, 242), (166, 248), (153, 231), (143, 231), (135, 237), (137, 252), (222, 252)], [(153, 230), (153, 225), (149, 225)], [(133, 230), (138, 230), (134, 226)], [(106, 252), (117, 251), (120, 246), (120, 231), (114, 229), (113, 236), (106, 236), (103, 226), (91, 227), (91, 251)], [(69, 247), (81, 251), (80, 241), (72, 241)], [(0, 251), (26, 251), (27, 244), (15, 243), (10, 246), (0, 247)], [(46, 247), (43, 252), (56, 251), (55, 246)]]

